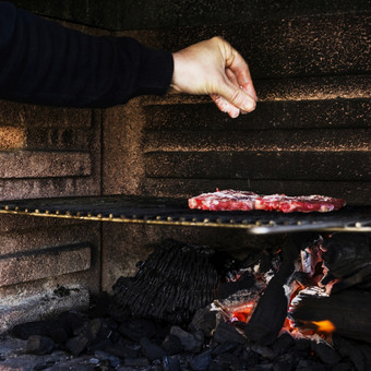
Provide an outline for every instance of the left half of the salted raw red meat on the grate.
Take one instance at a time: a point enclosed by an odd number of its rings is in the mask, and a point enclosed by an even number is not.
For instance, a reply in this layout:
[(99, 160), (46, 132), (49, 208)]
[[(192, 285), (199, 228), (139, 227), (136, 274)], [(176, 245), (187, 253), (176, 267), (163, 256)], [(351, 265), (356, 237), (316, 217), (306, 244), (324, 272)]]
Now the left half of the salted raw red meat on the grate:
[(259, 194), (247, 191), (224, 190), (212, 193), (203, 193), (189, 199), (190, 208), (210, 211), (251, 211), (254, 210), (254, 201)]

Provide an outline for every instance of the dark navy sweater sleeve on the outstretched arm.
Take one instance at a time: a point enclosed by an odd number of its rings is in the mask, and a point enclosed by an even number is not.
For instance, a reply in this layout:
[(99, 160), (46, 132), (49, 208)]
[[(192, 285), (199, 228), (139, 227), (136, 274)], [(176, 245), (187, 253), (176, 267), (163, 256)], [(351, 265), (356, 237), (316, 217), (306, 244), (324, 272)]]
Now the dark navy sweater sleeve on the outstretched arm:
[(172, 55), (129, 37), (95, 37), (0, 1), (0, 98), (108, 107), (166, 94)]

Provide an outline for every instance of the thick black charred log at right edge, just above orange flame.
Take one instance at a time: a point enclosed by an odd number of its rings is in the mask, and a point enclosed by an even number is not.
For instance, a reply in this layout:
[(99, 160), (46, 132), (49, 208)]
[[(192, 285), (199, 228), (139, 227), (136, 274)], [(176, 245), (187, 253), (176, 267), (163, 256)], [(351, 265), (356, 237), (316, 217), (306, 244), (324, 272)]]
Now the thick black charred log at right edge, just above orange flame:
[(347, 338), (371, 344), (371, 292), (347, 289), (316, 297), (300, 292), (299, 304), (290, 312), (290, 318), (299, 328), (306, 328), (312, 321), (331, 321), (335, 333)]

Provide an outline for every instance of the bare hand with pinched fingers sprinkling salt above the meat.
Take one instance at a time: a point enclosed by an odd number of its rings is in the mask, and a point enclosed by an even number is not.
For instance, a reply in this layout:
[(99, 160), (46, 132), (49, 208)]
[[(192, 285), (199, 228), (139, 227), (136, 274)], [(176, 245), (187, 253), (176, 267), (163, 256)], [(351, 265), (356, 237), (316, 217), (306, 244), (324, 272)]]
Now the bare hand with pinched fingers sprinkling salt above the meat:
[(194, 44), (172, 56), (172, 92), (208, 94), (231, 118), (255, 109), (258, 98), (249, 67), (222, 37)]

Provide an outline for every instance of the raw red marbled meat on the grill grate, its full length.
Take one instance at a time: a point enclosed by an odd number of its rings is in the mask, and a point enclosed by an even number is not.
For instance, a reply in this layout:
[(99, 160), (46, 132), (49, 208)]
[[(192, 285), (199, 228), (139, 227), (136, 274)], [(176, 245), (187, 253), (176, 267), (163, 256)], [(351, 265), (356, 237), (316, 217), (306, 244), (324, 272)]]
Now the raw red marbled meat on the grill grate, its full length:
[(225, 190), (203, 193), (189, 199), (190, 208), (208, 211), (265, 210), (283, 213), (332, 212), (345, 206), (342, 199), (324, 195), (288, 196), (286, 194), (259, 195), (254, 192)]

